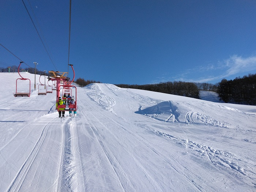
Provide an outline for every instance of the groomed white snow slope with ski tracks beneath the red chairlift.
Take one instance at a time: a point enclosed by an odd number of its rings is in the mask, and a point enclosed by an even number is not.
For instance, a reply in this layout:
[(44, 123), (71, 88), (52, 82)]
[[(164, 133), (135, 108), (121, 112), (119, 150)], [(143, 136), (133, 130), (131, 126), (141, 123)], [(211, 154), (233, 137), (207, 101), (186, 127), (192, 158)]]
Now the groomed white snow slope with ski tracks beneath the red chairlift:
[(255, 106), (90, 84), (61, 122), (56, 91), (14, 98), (16, 78), (0, 73), (0, 191), (256, 190)]

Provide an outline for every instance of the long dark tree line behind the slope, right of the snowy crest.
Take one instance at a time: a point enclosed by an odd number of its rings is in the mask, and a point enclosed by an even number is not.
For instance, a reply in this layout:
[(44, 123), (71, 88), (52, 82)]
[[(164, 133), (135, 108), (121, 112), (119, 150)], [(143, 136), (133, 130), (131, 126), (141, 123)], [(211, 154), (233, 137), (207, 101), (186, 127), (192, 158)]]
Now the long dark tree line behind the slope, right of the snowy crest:
[(242, 105), (256, 105), (256, 74), (245, 75), (243, 78), (237, 77), (234, 80), (222, 79), (221, 82), (215, 84), (175, 81), (145, 85), (116, 84), (116, 86), (181, 95), (197, 99), (200, 98), (199, 90), (214, 91), (219, 94), (220, 101)]

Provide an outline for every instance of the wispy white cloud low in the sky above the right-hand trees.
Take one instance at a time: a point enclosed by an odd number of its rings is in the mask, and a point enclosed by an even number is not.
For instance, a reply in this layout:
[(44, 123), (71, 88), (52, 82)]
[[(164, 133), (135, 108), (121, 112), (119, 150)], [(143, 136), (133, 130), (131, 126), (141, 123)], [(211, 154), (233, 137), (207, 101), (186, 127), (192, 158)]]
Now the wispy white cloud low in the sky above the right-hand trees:
[(215, 65), (197, 66), (192, 69), (187, 69), (185, 72), (183, 71), (182, 74), (176, 74), (175, 76), (164, 74), (162, 77), (158, 77), (153, 83), (167, 81), (213, 82), (228, 78), (231, 75), (244, 74), (250, 71), (256, 71), (256, 56), (243, 58), (234, 55), (229, 59), (219, 61)]

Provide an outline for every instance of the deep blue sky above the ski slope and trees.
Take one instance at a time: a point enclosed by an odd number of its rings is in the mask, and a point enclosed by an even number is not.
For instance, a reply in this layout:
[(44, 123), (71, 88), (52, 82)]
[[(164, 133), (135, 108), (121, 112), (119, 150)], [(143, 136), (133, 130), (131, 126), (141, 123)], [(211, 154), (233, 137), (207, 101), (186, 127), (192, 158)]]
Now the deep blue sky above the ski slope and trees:
[[(31, 67), (67, 72), (69, 1), (23, 1), (53, 63), (22, 0), (1, 1), (0, 43)], [(256, 73), (255, 0), (73, 0), (71, 9), (75, 79), (217, 83)], [(0, 46), (1, 64), (19, 60)]]

